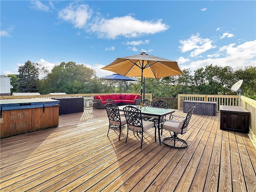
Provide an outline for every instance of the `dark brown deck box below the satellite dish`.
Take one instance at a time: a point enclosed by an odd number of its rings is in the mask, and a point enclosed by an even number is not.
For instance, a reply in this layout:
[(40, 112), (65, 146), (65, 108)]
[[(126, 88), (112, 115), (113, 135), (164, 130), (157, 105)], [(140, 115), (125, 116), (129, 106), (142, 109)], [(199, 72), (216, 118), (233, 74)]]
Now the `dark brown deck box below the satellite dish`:
[(249, 133), (250, 111), (243, 107), (220, 105), (220, 129)]

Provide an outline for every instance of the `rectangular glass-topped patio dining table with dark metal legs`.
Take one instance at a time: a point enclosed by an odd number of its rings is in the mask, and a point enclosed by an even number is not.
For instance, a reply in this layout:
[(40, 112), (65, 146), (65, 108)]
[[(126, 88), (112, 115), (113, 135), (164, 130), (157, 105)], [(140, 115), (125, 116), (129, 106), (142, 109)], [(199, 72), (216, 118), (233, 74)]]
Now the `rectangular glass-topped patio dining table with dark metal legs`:
[[(119, 110), (123, 111), (124, 108), (129, 105), (122, 105), (118, 106)], [(134, 106), (134, 105), (131, 105)], [(136, 106), (135, 106), (136, 107)], [(166, 116), (168, 114), (172, 114), (175, 112), (174, 109), (162, 109), (162, 108), (156, 108), (156, 107), (142, 107), (140, 109), (142, 115), (149, 115), (149, 116), (156, 116), (158, 117), (157, 120), (157, 128), (158, 128), (158, 138), (159, 138), (159, 144), (161, 145), (161, 137), (160, 137), (160, 123), (161, 123), (161, 117)]]

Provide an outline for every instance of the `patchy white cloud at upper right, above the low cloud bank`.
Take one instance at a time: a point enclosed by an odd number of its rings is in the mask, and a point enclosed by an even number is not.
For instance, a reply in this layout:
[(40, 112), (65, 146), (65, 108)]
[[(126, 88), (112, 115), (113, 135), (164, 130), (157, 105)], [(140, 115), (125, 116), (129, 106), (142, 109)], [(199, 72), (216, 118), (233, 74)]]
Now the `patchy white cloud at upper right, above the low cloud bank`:
[(190, 53), (190, 56), (195, 57), (203, 52), (206, 52), (207, 50), (216, 48), (216, 46), (212, 45), (212, 40), (208, 38), (203, 39), (199, 36), (200, 34), (197, 33), (196, 35), (190, 36), (189, 39), (180, 40), (180, 43), (182, 44), (181, 46), (179, 46), (181, 52), (183, 53), (193, 50)]

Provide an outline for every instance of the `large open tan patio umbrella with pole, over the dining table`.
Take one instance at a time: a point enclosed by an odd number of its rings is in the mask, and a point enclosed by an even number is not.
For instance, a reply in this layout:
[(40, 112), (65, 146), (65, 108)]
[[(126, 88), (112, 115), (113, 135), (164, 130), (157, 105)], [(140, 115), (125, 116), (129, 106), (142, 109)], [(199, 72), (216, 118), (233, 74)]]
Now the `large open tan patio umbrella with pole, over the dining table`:
[(143, 77), (159, 79), (183, 74), (176, 61), (148, 55), (145, 52), (138, 55), (116, 58), (116, 60), (102, 69), (123, 76), (141, 77), (140, 100), (142, 100)]

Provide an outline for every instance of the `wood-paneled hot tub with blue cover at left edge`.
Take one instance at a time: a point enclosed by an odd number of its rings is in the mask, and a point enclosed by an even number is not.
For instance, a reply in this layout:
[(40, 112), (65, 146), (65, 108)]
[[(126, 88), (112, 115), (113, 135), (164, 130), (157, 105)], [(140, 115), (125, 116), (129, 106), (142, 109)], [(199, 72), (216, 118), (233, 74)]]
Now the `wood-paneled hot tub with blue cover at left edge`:
[(53, 99), (1, 100), (1, 138), (58, 126), (58, 103)]

